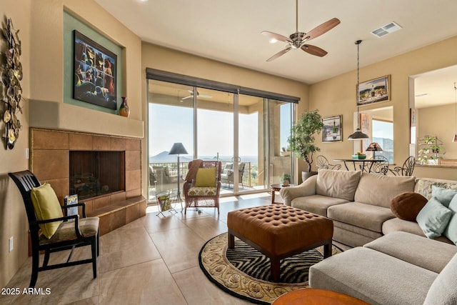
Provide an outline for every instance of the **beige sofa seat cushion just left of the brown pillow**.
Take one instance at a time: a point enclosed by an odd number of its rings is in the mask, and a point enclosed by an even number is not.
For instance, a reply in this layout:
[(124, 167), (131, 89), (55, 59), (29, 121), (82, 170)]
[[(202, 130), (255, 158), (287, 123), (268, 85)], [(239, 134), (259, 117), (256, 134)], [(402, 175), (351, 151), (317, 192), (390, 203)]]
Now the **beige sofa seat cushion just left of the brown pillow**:
[(391, 209), (383, 206), (373, 206), (361, 202), (348, 202), (330, 206), (327, 210), (328, 217), (353, 226), (359, 226), (375, 232), (382, 231), (383, 222), (395, 217)]

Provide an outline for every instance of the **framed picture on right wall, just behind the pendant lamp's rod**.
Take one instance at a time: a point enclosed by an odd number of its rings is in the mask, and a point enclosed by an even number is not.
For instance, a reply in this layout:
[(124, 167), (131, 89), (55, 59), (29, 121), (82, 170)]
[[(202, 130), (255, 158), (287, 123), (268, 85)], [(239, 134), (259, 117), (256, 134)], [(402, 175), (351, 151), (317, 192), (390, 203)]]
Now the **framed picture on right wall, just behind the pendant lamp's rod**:
[(391, 100), (391, 76), (363, 81), (357, 88), (357, 105), (377, 103)]

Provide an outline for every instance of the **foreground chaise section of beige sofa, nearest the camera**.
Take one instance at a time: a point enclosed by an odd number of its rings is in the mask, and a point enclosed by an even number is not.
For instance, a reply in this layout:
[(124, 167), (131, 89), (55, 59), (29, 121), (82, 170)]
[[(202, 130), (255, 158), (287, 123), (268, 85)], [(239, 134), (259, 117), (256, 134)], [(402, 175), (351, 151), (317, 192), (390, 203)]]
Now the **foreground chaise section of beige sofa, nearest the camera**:
[(309, 285), (372, 305), (457, 304), (457, 246), (393, 232), (311, 266)]

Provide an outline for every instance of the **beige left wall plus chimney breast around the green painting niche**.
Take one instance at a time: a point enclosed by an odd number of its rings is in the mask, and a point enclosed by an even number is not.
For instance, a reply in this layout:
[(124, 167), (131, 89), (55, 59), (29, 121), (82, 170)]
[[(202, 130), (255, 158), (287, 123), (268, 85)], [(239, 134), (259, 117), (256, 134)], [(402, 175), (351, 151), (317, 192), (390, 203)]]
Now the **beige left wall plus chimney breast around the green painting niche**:
[[(4, 15), (13, 19), (16, 29), (21, 30), (19, 37), (22, 41), (21, 62), (24, 69), (21, 85), (23, 95), (28, 100), (24, 114), (19, 115), (23, 129), (16, 146), (9, 151), (0, 147), (0, 286), (3, 287), (28, 254), (29, 225), (24, 204), (7, 173), (29, 168), (29, 161), (25, 158), (25, 150), (29, 147), (29, 126), (142, 138), (141, 79), (144, 76), (140, 71), (139, 37), (93, 0), (0, 0), (0, 7)], [(129, 97), (129, 119), (63, 103), (64, 9), (124, 47), (122, 95)], [(14, 237), (14, 250), (11, 253), (6, 246), (10, 236)]]

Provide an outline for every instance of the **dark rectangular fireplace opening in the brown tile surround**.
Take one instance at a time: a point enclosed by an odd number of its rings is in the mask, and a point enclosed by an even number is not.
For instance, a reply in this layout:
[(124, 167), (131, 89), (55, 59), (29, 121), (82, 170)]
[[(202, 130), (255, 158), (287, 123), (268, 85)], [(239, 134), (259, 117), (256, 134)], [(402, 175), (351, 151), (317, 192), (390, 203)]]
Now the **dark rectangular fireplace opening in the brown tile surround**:
[(125, 191), (124, 151), (69, 151), (70, 194), (78, 199)]

